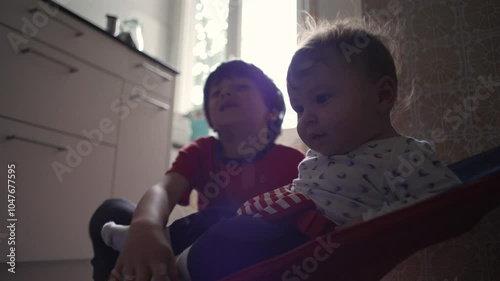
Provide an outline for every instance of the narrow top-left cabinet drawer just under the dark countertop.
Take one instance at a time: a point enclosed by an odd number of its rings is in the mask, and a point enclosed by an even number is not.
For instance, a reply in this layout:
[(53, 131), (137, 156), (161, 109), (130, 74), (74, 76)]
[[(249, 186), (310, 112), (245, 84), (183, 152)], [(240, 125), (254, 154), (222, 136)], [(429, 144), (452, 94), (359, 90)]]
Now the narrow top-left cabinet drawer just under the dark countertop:
[(53, 5), (41, 0), (5, 2), (0, 22), (20, 31), (26, 40), (43, 41), (112, 73), (127, 66), (126, 46)]

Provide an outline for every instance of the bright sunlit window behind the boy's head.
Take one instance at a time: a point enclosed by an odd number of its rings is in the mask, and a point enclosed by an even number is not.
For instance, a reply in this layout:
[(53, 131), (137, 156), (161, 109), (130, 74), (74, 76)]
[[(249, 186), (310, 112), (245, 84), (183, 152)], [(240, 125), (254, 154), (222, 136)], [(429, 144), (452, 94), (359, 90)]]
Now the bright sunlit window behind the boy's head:
[[(191, 1), (187, 1), (191, 2)], [(286, 94), (286, 70), (297, 43), (297, 2), (291, 0), (194, 0), (191, 24), (194, 41), (186, 44), (178, 111), (200, 108), (203, 85), (221, 62), (241, 58), (264, 70), (283, 92), (287, 114), (283, 128), (296, 126)], [(228, 24), (229, 23), (229, 24)], [(190, 28), (192, 27), (192, 28)], [(187, 33), (189, 34), (189, 32)], [(188, 36), (186, 34), (186, 36)], [(191, 35), (189, 35), (191, 36)], [(185, 52), (186, 56), (191, 53)], [(181, 73), (181, 74), (182, 74)]]

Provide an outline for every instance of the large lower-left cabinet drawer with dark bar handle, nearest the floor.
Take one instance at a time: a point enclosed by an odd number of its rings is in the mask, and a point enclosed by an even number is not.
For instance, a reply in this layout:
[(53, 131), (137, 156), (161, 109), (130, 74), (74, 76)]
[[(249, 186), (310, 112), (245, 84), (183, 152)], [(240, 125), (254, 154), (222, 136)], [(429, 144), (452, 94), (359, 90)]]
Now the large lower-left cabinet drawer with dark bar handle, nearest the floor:
[[(15, 164), (16, 261), (92, 257), (88, 222), (111, 194), (114, 153), (109, 146), (0, 118), (3, 173)], [(0, 197), (7, 198), (7, 188)], [(0, 212), (3, 222), (6, 211)], [(0, 251), (7, 253), (7, 243), (0, 243)]]

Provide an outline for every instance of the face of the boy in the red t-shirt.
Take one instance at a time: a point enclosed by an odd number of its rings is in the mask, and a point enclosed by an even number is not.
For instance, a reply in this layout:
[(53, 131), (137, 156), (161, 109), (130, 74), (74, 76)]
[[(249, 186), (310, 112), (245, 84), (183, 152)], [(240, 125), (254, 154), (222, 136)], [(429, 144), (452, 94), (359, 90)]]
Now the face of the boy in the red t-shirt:
[(220, 131), (231, 125), (267, 128), (269, 110), (259, 88), (251, 79), (223, 79), (212, 85), (208, 94), (208, 112), (214, 130)]

